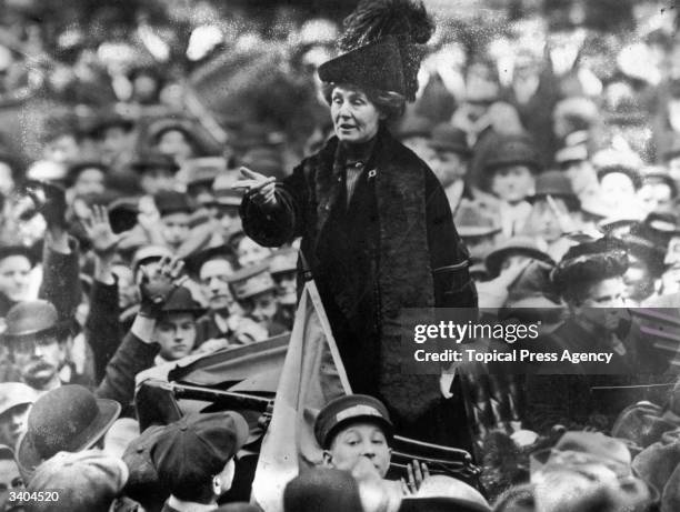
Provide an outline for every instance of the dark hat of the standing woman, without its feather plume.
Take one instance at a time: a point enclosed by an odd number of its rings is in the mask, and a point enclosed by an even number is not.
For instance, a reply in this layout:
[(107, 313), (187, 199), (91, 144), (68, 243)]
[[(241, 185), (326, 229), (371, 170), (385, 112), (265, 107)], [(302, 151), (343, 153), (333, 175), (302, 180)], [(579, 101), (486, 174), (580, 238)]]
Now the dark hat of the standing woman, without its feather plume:
[(351, 83), (406, 94), (401, 53), (392, 36), (324, 62), (318, 73), (327, 83)]

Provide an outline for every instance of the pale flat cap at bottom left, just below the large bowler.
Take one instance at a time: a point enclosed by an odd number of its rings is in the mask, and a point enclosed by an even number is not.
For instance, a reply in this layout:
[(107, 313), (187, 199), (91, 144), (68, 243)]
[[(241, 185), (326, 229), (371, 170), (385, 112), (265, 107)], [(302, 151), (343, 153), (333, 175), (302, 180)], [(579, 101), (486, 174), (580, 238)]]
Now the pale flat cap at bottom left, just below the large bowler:
[(57, 453), (36, 470), (27, 491), (58, 490), (54, 501), (36, 500), (33, 512), (108, 511), (128, 480), (128, 466), (118, 458), (101, 451)]

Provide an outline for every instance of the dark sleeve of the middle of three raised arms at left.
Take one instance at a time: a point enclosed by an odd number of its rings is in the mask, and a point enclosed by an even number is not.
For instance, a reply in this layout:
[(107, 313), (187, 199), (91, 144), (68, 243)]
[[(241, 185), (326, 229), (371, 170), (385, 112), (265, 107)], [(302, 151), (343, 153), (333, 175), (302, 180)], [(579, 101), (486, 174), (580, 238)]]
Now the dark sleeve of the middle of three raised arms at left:
[(90, 293), (90, 314), (84, 325), (88, 343), (94, 355), (94, 378), (100, 382), (109, 360), (116, 353), (122, 338), (118, 307), (118, 284), (94, 281)]

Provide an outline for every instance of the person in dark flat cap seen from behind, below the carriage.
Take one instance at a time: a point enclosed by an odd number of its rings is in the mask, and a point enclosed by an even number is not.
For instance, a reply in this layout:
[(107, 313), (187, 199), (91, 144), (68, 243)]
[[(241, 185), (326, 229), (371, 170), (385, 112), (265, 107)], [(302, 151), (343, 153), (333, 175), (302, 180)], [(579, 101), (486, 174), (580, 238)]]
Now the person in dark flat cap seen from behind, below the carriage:
[(248, 440), (237, 412), (192, 413), (169, 424), (150, 450), (159, 481), (170, 490), (162, 512), (214, 510), (231, 489), (234, 455)]

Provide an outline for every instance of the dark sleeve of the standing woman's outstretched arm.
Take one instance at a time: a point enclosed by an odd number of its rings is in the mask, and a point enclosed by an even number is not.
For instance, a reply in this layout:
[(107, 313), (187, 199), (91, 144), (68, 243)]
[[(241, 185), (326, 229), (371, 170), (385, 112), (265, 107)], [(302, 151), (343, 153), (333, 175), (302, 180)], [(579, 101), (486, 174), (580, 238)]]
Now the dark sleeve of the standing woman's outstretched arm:
[(246, 234), (263, 247), (280, 247), (302, 235), (308, 201), (303, 164), (282, 183), (277, 183), (274, 194), (273, 207), (260, 207), (247, 194), (239, 211)]

